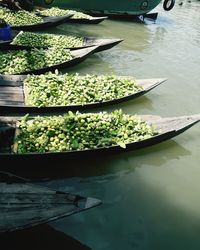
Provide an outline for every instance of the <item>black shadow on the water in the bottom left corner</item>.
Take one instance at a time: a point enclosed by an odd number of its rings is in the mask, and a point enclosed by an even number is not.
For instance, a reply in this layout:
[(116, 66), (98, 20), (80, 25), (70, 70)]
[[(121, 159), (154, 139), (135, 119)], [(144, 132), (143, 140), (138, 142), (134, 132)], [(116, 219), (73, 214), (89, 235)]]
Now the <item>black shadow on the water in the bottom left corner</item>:
[(49, 225), (40, 225), (26, 230), (1, 233), (0, 242), (4, 250), (27, 250), (27, 247), (29, 250), (91, 249)]

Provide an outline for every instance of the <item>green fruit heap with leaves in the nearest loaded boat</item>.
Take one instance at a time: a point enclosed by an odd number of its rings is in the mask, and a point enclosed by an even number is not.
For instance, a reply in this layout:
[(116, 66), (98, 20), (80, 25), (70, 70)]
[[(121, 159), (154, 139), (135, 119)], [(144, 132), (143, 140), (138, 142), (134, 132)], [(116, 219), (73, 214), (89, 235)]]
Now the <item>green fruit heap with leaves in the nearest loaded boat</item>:
[(25, 116), (17, 125), (16, 153), (63, 152), (96, 149), (148, 139), (156, 130), (137, 116), (112, 113), (68, 113), (60, 116)]

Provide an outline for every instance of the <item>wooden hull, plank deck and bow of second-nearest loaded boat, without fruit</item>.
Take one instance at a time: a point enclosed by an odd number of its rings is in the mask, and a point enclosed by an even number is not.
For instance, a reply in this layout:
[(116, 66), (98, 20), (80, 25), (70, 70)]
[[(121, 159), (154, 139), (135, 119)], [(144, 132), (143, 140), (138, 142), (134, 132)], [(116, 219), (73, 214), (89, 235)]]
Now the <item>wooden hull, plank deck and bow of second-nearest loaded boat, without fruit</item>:
[[(113, 99), (110, 101), (104, 102), (94, 102), (88, 103), (85, 105), (69, 105), (69, 106), (49, 106), (49, 107), (33, 107), (26, 106), (26, 88), (24, 88), (23, 80), (26, 76), (16, 76), (9, 75), (4, 76), (0, 75), (0, 111), (1, 113), (5, 112), (24, 112), (24, 113), (41, 113), (41, 112), (54, 112), (54, 111), (67, 111), (67, 110), (86, 110), (90, 108), (98, 108), (106, 105), (117, 104), (121, 102), (126, 102), (142, 96), (154, 89), (166, 79), (138, 79), (136, 80), (139, 86), (143, 87), (143, 90), (140, 90), (136, 93), (133, 93), (128, 96), (124, 96), (123, 98)], [(121, 77), (121, 78), (129, 78), (131, 77)], [(133, 78), (132, 78), (133, 79)]]

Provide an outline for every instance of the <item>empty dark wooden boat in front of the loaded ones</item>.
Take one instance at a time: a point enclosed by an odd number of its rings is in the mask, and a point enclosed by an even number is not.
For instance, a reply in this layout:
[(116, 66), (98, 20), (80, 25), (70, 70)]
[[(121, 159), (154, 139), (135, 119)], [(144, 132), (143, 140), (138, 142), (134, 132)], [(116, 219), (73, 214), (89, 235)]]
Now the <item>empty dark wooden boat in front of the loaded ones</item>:
[[(0, 179), (2, 175), (0, 172)], [(100, 200), (90, 197), (31, 183), (13, 183), (9, 178), (7, 182), (1, 180), (0, 233), (48, 223), (100, 204)]]

